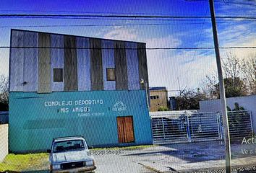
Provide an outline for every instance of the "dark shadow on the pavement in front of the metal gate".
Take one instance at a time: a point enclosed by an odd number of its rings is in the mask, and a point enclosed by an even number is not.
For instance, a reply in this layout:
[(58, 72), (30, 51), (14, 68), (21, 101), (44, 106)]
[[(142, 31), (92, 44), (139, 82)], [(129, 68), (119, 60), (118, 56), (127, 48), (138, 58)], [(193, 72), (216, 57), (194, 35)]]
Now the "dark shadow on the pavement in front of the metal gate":
[[(159, 145), (159, 151), (142, 151), (135, 154), (126, 154), (123, 156), (157, 156), (164, 154), (166, 156), (174, 156), (188, 163), (195, 163), (201, 161), (215, 161), (225, 159), (225, 144), (223, 141), (207, 141), (197, 143), (176, 143)], [(242, 154), (242, 150), (251, 150), (256, 146), (243, 146), (241, 143), (234, 143), (231, 145), (231, 159), (245, 158), (249, 156), (256, 156), (254, 154)]]

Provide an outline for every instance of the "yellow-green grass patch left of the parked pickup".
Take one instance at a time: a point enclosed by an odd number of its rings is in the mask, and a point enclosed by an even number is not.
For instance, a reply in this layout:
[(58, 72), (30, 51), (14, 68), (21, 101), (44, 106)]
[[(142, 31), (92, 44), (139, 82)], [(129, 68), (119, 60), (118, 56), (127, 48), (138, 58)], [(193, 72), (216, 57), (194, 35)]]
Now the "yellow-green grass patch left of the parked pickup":
[(0, 172), (35, 171), (48, 169), (48, 154), (8, 154), (0, 163)]

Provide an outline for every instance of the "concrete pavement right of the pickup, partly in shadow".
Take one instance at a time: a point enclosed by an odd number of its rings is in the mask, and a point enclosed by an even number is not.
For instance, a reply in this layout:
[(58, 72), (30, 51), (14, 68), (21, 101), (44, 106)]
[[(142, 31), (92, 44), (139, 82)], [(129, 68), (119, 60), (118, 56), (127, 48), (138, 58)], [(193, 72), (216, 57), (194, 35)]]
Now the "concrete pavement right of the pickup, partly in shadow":
[[(256, 145), (233, 145), (233, 166), (256, 165), (256, 154), (242, 153), (244, 149), (255, 148)], [(126, 150), (121, 154), (95, 156), (95, 161), (98, 167), (96, 172), (187, 172), (224, 167), (224, 158), (224, 144), (213, 141)]]

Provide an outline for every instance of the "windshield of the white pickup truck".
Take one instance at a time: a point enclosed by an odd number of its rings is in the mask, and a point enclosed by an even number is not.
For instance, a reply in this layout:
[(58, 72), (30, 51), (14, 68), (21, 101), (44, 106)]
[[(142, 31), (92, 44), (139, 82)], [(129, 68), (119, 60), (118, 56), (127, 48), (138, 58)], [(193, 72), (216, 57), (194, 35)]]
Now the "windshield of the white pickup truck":
[(54, 143), (53, 152), (58, 153), (82, 149), (88, 149), (86, 143), (84, 143), (82, 140), (59, 141)]

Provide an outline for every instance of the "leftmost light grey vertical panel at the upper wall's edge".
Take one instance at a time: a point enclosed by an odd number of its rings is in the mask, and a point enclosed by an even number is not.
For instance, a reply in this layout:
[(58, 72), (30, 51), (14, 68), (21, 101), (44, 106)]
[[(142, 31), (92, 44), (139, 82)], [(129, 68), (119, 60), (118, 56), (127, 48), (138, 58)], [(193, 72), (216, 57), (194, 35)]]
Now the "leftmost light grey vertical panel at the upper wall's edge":
[[(23, 46), (24, 33), (21, 31), (12, 30), (11, 46)], [(10, 73), (9, 73), (9, 91), (22, 92), (23, 91), (23, 61), (24, 49), (11, 48), (10, 52)]]

